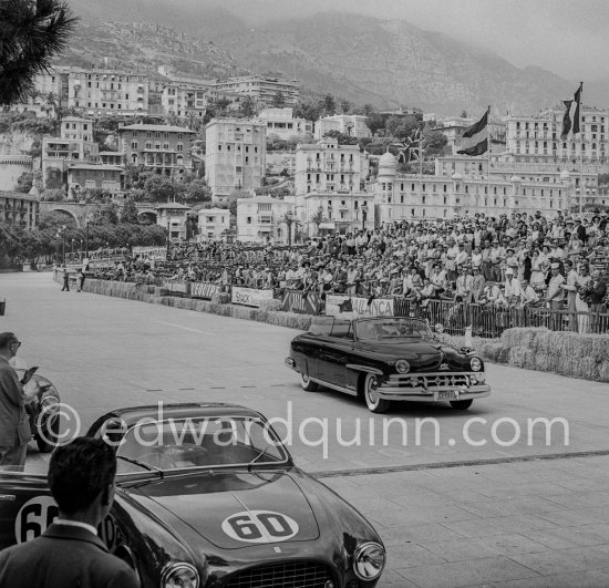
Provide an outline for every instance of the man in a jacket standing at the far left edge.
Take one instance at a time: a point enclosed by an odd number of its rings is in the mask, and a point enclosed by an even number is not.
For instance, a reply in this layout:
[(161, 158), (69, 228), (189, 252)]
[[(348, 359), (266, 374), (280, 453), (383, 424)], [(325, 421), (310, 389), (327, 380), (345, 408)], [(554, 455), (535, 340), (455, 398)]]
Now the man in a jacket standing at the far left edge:
[[(14, 333), (0, 333), (0, 470), (23, 471), (30, 423), (25, 412), (23, 384), (9, 361), (17, 355), (21, 342)], [(0, 586), (3, 586), (0, 582)]]

